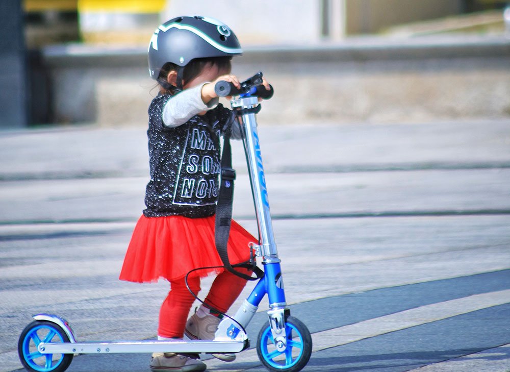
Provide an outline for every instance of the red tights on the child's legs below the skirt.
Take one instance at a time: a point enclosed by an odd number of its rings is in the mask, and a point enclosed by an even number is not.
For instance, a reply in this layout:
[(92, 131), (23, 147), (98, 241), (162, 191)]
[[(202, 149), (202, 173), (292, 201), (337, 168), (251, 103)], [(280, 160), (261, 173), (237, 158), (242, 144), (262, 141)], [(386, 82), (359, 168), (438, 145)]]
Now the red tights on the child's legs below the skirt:
[[(236, 268), (237, 271), (249, 275), (250, 271), (244, 268)], [(188, 285), (193, 293), (200, 291), (200, 278), (188, 278)], [(246, 280), (239, 278), (229, 271), (219, 274), (211, 286), (206, 300), (206, 305), (225, 313), (236, 301), (237, 297), (246, 285)], [(188, 313), (195, 301), (195, 297), (186, 288), (183, 279), (170, 282), (170, 291), (161, 305), (158, 335), (162, 337), (178, 337), (184, 335), (184, 327)]]

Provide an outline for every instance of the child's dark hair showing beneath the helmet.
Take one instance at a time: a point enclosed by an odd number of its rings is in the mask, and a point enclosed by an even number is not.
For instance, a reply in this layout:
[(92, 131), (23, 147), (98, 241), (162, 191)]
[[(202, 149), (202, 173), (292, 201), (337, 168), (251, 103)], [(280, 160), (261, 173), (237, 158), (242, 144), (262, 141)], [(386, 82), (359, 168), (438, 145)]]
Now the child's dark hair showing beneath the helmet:
[[(216, 66), (218, 68), (218, 71), (221, 72), (224, 71), (225, 73), (229, 73), (232, 68), (231, 60), (232, 57), (196, 58), (192, 60), (184, 67), (183, 85), (195, 79), (208, 65), (210, 65), (211, 67)], [(168, 73), (170, 71), (177, 71), (178, 68), (179, 66), (171, 62), (165, 63), (161, 68), (161, 72), (158, 77), (158, 82), (160, 84), (160, 89), (162, 90), (162, 93), (165, 94), (175, 93), (175, 87), (173, 86), (169, 87), (168, 85), (165, 85), (164, 82), (166, 82), (167, 80)], [(163, 81), (163, 83), (161, 81)]]

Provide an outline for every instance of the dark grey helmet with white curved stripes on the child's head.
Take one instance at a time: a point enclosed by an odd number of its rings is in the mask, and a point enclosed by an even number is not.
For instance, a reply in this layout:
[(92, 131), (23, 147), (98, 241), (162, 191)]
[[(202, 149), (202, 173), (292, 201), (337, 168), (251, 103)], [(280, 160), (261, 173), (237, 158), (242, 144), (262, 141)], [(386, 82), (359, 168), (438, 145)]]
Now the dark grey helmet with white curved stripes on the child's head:
[(208, 17), (177, 17), (156, 29), (149, 43), (149, 73), (158, 79), (167, 62), (184, 67), (195, 58), (242, 54), (236, 35), (224, 23)]

